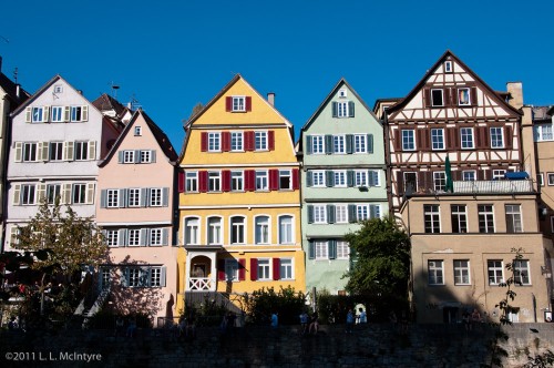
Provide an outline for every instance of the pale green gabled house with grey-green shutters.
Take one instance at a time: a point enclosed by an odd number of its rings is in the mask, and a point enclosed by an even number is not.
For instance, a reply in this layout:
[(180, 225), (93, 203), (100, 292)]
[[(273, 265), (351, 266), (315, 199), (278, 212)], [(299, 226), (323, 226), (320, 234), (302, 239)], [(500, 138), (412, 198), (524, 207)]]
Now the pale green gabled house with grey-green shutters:
[(343, 235), (389, 212), (383, 127), (341, 79), (302, 126), (298, 151), (306, 289), (341, 294), (351, 263)]

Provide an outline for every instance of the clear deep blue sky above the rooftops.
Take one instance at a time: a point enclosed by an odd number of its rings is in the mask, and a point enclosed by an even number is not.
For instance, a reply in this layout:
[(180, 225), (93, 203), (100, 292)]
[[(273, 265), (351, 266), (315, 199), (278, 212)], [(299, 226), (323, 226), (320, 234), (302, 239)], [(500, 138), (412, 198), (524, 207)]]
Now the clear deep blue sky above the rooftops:
[[(340, 78), (369, 106), (406, 95), (450, 49), (494, 90), (554, 104), (554, 1), (4, 1), (2, 72), (61, 74), (89, 100), (133, 96), (181, 150), (183, 120), (240, 73), (300, 127)], [(9, 42), (6, 41), (9, 40)]]

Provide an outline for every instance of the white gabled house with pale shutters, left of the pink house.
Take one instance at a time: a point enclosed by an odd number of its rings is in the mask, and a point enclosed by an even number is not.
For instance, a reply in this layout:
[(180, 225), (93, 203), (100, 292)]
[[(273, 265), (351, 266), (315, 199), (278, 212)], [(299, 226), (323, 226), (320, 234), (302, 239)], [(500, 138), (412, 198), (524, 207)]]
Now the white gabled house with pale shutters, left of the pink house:
[(98, 162), (120, 131), (79, 91), (54, 76), (12, 114), (4, 248), (42, 201), (95, 216)]

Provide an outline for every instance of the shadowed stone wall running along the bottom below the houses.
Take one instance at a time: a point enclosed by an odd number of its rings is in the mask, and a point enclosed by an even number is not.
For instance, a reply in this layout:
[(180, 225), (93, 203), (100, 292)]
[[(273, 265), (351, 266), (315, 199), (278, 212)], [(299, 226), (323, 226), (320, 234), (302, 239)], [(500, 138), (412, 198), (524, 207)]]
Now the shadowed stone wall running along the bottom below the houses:
[[(505, 331), (505, 367), (523, 365), (527, 355), (554, 351), (554, 324), (517, 324)], [(206, 327), (198, 328), (193, 340), (155, 329), (137, 330), (133, 338), (114, 337), (109, 330), (4, 331), (0, 359), (2, 367), (473, 368), (489, 362), (492, 336), (488, 326), (465, 331), (459, 325), (418, 325), (401, 336), (390, 326), (373, 324), (356, 326), (352, 334), (346, 334), (343, 325), (321, 326), (317, 336), (299, 335), (298, 326), (249, 326), (228, 335)]]

